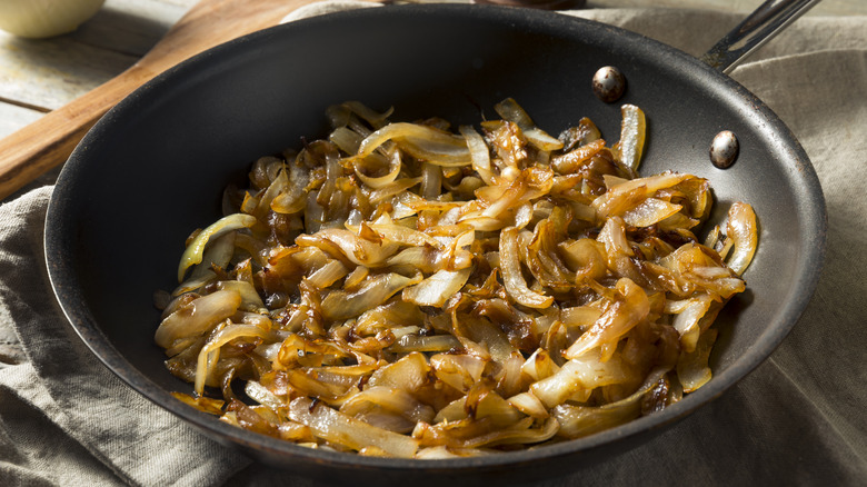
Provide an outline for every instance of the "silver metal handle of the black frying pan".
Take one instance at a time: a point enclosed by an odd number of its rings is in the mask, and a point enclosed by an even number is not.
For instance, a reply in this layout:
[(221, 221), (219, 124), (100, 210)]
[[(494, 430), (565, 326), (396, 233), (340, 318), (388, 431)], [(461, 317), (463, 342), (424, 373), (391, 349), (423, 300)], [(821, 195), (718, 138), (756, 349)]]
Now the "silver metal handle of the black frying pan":
[(767, 0), (701, 56), (711, 68), (728, 73), (820, 0)]

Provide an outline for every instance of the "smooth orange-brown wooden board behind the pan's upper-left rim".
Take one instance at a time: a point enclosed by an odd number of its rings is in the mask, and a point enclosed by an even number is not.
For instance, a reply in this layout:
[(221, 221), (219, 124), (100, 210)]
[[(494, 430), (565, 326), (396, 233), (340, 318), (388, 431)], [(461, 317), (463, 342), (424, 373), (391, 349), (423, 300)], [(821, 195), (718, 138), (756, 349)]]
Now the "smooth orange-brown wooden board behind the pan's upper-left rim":
[(132, 67), (0, 140), (0, 198), (63, 163), (100, 117), (155, 76), (217, 44), (276, 26), (315, 1), (200, 0)]

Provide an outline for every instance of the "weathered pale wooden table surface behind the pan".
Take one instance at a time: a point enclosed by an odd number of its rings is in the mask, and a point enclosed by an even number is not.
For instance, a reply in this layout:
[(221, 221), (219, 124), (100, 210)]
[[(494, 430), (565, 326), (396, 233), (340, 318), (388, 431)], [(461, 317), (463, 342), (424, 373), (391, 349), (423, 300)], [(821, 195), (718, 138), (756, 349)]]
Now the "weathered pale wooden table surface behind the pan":
[[(0, 138), (113, 78), (196, 0), (107, 0), (77, 31), (21, 39), (0, 31)], [(687, 7), (749, 12), (761, 0), (588, 0), (588, 8)], [(825, 0), (810, 16), (867, 14), (865, 0)]]

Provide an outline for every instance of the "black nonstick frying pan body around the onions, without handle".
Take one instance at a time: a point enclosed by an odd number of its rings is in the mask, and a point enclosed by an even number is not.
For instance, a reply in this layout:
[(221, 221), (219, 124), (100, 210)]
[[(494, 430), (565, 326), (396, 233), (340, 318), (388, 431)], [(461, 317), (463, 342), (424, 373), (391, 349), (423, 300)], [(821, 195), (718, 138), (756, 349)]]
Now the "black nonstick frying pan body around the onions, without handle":
[[(719, 57), (716, 57), (719, 59)], [(590, 89), (619, 67), (618, 103)], [(619, 133), (620, 103), (648, 117), (641, 172), (708, 178), (720, 221), (754, 206), (759, 247), (748, 292), (718, 318), (714, 378), (664, 411), (552, 446), (480, 458), (400, 460), (311, 450), (240, 428), (175, 400), (189, 390), (153, 345), (158, 289), (171, 289), (190, 229), (220, 213), (222, 189), (256, 158), (326, 135), (323, 110), (360, 100), (392, 119), (439, 116), (477, 123), (512, 97), (551, 133), (590, 117)], [(729, 169), (708, 146), (720, 130), (740, 142)], [(209, 50), (124, 99), (64, 166), (48, 210), (46, 255), (57, 298), (90, 349), (148, 399), (266, 464), (335, 483), (515, 483), (591, 466), (640, 445), (755, 369), (784, 339), (815, 289), (825, 205), (810, 162), (785, 125), (720, 71), (645, 37), (546, 11), (469, 4), (389, 6), (263, 30)]]

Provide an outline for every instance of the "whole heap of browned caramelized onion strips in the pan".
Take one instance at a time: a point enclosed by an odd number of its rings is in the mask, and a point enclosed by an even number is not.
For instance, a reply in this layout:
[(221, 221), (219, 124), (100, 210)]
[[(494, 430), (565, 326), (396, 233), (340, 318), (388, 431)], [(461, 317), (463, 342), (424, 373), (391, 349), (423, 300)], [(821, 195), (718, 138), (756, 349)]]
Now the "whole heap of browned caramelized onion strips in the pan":
[(757, 246), (749, 205), (702, 245), (708, 181), (637, 177), (638, 107), (614, 148), (586, 118), (554, 138), (515, 100), (495, 109), (452, 131), (347, 102), (327, 139), (257, 160), (163, 296), (155, 339), (195, 384), (176, 397), (311, 448), (452, 458), (591, 435), (706, 384)]

